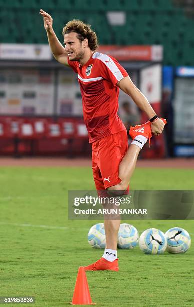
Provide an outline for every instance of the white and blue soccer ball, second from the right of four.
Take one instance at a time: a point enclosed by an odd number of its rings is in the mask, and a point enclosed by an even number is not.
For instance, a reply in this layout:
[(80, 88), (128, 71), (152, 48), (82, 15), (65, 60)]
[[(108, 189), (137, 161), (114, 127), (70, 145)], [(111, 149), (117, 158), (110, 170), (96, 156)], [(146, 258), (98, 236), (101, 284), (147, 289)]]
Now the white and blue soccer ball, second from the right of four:
[(149, 228), (140, 235), (139, 247), (145, 254), (163, 254), (167, 239), (161, 230)]

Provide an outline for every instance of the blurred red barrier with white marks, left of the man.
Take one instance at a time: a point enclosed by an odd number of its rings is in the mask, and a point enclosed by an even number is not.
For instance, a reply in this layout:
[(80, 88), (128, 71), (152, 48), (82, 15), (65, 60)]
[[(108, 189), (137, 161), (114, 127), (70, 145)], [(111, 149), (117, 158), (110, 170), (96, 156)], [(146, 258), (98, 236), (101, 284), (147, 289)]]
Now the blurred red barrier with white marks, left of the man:
[(89, 156), (83, 119), (0, 117), (0, 155)]

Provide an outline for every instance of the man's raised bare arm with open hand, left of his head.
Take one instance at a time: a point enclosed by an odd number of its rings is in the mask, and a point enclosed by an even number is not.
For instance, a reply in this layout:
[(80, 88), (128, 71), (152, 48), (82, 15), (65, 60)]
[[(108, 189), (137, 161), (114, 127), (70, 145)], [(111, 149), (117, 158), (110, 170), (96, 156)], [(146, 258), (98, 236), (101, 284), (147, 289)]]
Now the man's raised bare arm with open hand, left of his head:
[(53, 53), (54, 58), (61, 64), (68, 65), (67, 61), (67, 53), (65, 52), (65, 48), (58, 40), (54, 30), (53, 30), (53, 19), (52, 17), (42, 9), (40, 10), (40, 14), (43, 16), (44, 28), (47, 31), (47, 37), (49, 41), (49, 46), (51, 52)]

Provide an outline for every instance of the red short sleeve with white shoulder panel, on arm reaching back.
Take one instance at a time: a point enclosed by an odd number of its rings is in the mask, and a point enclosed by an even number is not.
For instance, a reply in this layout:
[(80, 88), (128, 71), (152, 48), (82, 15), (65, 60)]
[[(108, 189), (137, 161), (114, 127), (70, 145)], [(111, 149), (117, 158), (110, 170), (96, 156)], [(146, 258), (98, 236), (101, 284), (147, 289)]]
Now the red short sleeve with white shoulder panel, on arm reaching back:
[(99, 65), (102, 78), (112, 82), (114, 86), (117, 82), (128, 76), (124, 67), (111, 56), (104, 55), (104, 57), (101, 57)]

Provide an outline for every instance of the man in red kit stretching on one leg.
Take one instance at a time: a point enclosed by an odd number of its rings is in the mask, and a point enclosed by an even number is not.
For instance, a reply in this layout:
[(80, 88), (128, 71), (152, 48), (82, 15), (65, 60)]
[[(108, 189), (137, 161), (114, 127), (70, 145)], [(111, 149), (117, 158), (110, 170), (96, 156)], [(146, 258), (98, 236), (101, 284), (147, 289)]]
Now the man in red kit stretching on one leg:
[[(152, 135), (159, 135), (166, 121), (157, 117), (145, 96), (133, 84), (126, 70), (111, 56), (96, 52), (95, 32), (80, 20), (63, 28), (64, 47), (52, 28), (51, 16), (40, 10), (49, 45), (55, 59), (70, 66), (78, 76), (84, 121), (92, 144), (92, 169), (97, 191), (112, 196), (128, 190), (140, 150)], [(119, 88), (127, 93), (150, 119), (131, 127), (128, 149), (127, 132), (117, 115)], [(105, 219), (106, 248), (102, 258), (86, 270), (118, 271), (117, 234), (120, 220)]]

